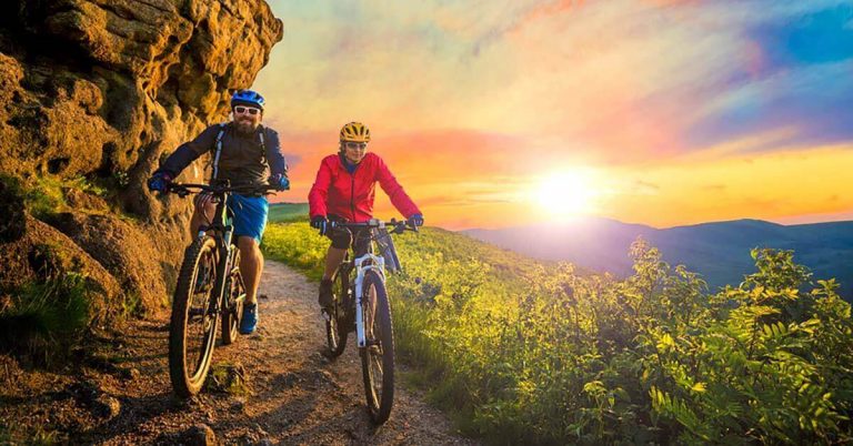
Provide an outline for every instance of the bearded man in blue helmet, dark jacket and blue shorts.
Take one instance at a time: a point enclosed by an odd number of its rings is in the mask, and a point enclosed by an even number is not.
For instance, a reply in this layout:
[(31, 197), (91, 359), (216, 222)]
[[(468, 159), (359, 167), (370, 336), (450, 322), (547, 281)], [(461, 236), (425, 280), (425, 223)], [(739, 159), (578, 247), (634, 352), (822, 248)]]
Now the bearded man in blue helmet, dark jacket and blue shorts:
[[(290, 189), (287, 164), (279, 145), (279, 134), (261, 125), (263, 97), (252, 90), (240, 90), (231, 97), (233, 120), (211, 125), (194, 140), (181, 144), (148, 181), (151, 191), (165, 192), (169, 183), (193, 160), (213, 152), (212, 179), (229, 180), (232, 186), (264, 185), (264, 181), (283, 191)], [(267, 168), (271, 175), (267, 178)], [(263, 255), (260, 243), (267, 226), (269, 204), (263, 195), (231, 195), (228, 203), (234, 213), (234, 236), (240, 249), (240, 271), (245, 282), (245, 303), (240, 333), (251, 334), (258, 326), (258, 285), (261, 282)], [(199, 194), (190, 223), (192, 234), (213, 219), (215, 204), (208, 194)]]

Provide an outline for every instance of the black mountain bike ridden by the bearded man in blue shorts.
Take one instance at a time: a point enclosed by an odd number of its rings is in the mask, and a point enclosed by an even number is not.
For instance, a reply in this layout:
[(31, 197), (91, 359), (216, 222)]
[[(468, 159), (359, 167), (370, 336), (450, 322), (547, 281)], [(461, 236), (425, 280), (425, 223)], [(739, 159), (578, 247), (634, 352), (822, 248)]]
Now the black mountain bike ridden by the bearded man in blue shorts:
[(233, 239), (232, 193), (267, 194), (275, 186), (230, 186), (229, 183), (171, 183), (168, 192), (184, 197), (207, 192), (217, 204), (213, 220), (202, 225), (183, 254), (169, 324), (169, 376), (174, 393), (195, 395), (204, 384), (213, 357), (217, 327), (222, 344), (237, 339), (243, 315), (245, 284), (240, 275), (240, 250)]

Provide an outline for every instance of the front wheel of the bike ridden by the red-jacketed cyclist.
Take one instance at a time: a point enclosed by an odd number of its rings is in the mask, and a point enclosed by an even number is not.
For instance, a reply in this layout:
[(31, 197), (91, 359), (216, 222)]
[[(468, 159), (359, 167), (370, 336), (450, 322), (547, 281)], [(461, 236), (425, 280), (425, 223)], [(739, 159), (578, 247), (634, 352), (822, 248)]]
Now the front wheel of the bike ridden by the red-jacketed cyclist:
[(364, 275), (362, 315), (367, 345), (361, 349), (361, 371), (368, 410), (375, 424), (391, 415), (394, 403), (394, 333), (385, 283), (375, 271)]

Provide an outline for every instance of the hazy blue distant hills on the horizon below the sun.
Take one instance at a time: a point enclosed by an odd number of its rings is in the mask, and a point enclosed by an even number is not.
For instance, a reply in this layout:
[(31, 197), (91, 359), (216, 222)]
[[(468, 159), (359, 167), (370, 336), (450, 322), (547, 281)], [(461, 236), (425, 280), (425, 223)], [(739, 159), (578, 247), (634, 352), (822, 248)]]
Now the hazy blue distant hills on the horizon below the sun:
[(642, 236), (661, 250), (666, 262), (701, 273), (712, 290), (736, 285), (755, 271), (750, 257), (753, 247), (794, 250), (794, 260), (809, 266), (814, 278), (837, 278), (842, 295), (853, 301), (853, 221), (786, 226), (736, 220), (659, 230), (589, 217), (565, 224), (463, 233), (536, 259), (569, 261), (618, 275), (631, 273), (628, 250)]

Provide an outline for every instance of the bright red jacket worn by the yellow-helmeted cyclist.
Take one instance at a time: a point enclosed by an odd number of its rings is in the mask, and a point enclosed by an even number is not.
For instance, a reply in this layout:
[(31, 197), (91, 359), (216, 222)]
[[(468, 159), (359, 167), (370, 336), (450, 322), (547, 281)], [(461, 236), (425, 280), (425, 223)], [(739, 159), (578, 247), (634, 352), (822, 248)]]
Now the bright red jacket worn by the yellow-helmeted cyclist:
[(367, 222), (373, 217), (377, 182), (404, 217), (421, 213), (385, 162), (373, 152), (364, 155), (352, 174), (340, 155), (324, 158), (308, 193), (309, 213), (312, 217), (331, 214), (355, 223)]

